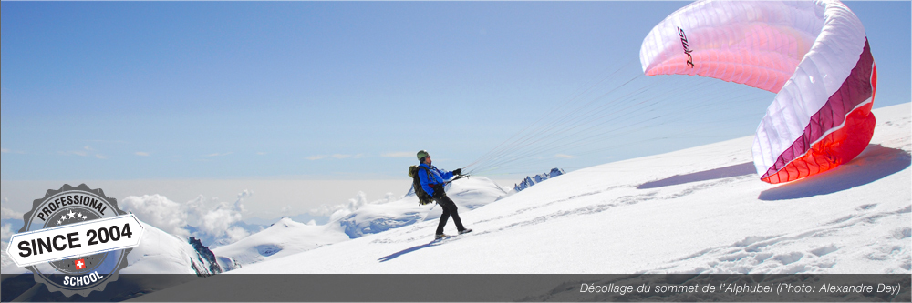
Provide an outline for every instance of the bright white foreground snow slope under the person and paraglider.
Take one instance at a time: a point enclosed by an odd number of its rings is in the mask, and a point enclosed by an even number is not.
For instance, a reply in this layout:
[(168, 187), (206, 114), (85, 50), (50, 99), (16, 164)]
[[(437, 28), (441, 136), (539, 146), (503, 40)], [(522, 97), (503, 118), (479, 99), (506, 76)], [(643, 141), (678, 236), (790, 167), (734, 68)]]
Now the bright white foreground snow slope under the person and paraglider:
[(229, 273), (908, 274), (912, 107), (874, 112), (859, 157), (785, 185), (758, 179), (747, 136), (554, 177), (461, 212), (461, 237), (432, 241), (429, 214)]

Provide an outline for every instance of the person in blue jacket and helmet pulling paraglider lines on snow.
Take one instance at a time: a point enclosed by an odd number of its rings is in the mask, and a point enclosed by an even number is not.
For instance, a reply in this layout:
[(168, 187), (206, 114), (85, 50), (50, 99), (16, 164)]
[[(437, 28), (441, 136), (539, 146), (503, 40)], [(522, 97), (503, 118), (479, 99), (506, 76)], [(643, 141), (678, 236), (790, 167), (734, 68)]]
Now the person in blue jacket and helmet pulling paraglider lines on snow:
[(453, 222), (456, 223), (456, 230), (458, 230), (460, 234), (472, 232), (472, 229), (462, 226), (462, 220), (459, 218), (459, 211), (457, 211), (456, 203), (453, 203), (453, 200), (450, 197), (447, 197), (447, 193), (443, 191), (446, 180), (451, 179), (453, 176), (459, 176), (462, 173), (462, 169), (457, 168), (456, 170), (448, 172), (430, 165), (430, 155), (426, 150), (418, 152), (418, 161), (421, 163), (420, 167), (427, 169), (428, 171), (427, 174), (418, 174), (421, 181), (421, 188), (424, 189), (424, 192), (428, 193), (430, 197), (434, 197), (434, 201), (443, 208), (443, 215), (440, 215), (440, 224), (437, 226), (437, 233), (434, 237), (447, 237), (447, 235), (443, 234), (443, 227), (447, 225), (447, 220), (449, 220), (450, 217), (453, 217)]

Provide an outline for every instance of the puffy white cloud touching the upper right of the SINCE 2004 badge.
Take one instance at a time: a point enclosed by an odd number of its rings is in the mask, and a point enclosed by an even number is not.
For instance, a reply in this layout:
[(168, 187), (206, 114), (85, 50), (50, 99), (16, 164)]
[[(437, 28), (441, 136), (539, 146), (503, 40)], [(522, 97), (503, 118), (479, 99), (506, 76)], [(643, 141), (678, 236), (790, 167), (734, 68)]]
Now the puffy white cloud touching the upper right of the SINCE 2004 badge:
[(184, 229), (187, 226), (186, 205), (181, 206), (160, 195), (125, 197), (120, 205), (124, 210), (132, 212), (142, 222), (174, 235), (190, 236), (190, 232)]

